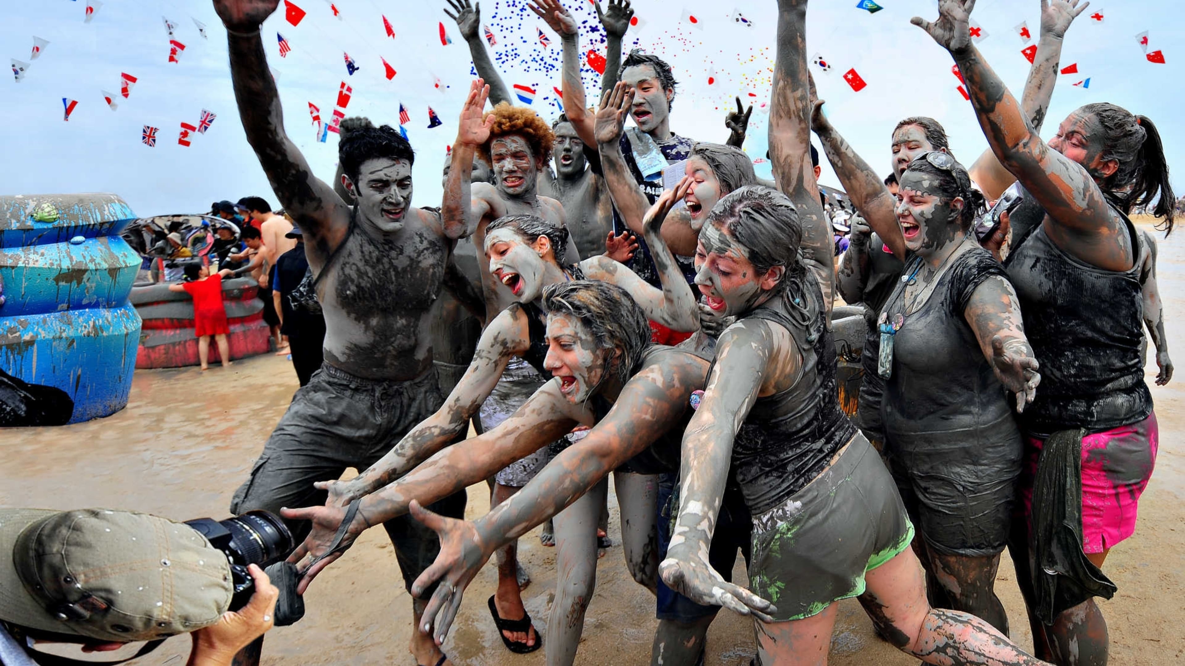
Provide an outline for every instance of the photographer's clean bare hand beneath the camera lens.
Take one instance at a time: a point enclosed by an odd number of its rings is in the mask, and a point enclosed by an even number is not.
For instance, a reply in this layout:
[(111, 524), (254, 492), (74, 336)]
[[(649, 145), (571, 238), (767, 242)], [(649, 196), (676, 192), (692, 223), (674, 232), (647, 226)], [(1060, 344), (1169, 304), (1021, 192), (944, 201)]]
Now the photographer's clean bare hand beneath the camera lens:
[(188, 666), (230, 666), (235, 654), (271, 628), (280, 590), (257, 564), (248, 565), (255, 594), (237, 611), (223, 613), (217, 625), (193, 632)]

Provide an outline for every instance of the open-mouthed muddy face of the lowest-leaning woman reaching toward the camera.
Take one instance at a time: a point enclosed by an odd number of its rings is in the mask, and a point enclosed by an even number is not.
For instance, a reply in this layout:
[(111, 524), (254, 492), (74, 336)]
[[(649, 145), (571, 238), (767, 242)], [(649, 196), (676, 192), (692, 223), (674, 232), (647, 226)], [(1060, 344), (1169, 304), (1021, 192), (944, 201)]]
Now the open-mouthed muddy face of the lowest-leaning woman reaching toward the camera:
[(572, 404), (587, 401), (604, 379), (609, 350), (574, 316), (547, 315), (547, 357), (543, 366), (559, 379), (559, 392)]

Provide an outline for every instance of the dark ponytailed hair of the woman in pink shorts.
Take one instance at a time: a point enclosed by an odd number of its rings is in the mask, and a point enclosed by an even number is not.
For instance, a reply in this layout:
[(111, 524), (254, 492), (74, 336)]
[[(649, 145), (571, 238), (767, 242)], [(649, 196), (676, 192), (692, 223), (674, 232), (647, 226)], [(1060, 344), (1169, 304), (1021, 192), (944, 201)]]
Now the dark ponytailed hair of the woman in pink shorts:
[(1103, 129), (1103, 151), (1100, 159), (1115, 160), (1119, 168), (1102, 185), (1103, 191), (1122, 207), (1125, 213), (1134, 206), (1147, 206), (1157, 196), (1152, 214), (1165, 218), (1157, 225), (1167, 236), (1173, 230), (1177, 198), (1168, 182), (1168, 164), (1160, 132), (1147, 116), (1133, 115), (1115, 104), (1087, 104), (1080, 113), (1098, 119)]

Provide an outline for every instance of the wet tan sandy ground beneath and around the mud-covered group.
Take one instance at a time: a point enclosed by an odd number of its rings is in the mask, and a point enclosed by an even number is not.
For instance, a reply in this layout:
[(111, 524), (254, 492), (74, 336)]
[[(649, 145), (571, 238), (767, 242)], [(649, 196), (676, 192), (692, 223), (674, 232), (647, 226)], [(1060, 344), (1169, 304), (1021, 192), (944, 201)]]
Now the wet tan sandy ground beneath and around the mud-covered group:
[[(1154, 353), (1148, 354), (1146, 377), (1160, 423), (1160, 454), (1140, 502), (1135, 536), (1112, 551), (1104, 568), (1119, 593), (1100, 603), (1116, 665), (1185, 660), (1185, 523), (1180, 519), (1185, 501), (1185, 239), (1179, 231), (1168, 241), (1158, 236), (1158, 242), (1165, 327), (1170, 351), (1183, 367), (1168, 386), (1155, 386)], [(271, 354), (229, 369), (213, 366), (209, 372), (139, 370), (128, 408), (111, 417), (53, 429), (0, 430), (0, 504), (128, 508), (179, 520), (225, 518), (231, 493), (245, 479), (296, 386), (292, 364)], [(626, 570), (614, 494), (609, 498), (609, 534), (619, 545), (600, 563), (576, 664), (643, 665), (649, 662), (656, 626), (654, 602)], [(468, 515), (487, 508), (486, 486), (470, 487)], [(537, 529), (524, 537), (519, 553), (533, 578), (524, 601), (536, 626), (543, 628), (552, 601), (555, 551), (539, 544)], [(1012, 564), (1007, 555), (1004, 559), (997, 590), (1013, 638), (1031, 647)], [(739, 558), (735, 576), (744, 579)], [(544, 664), (544, 651), (515, 655), (499, 640), (486, 608), (495, 578), (493, 566), (486, 566), (470, 584), (444, 643), (446, 653), (459, 665)], [(364, 534), (321, 574), (306, 594), (306, 606), (300, 623), (268, 634), (264, 665), (415, 662), (406, 652), (412, 630), (410, 602), (382, 530)], [(188, 640), (177, 638), (129, 664), (181, 666), (188, 646)], [(749, 664), (751, 621), (722, 611), (709, 634), (707, 651), (707, 664)], [(858, 603), (850, 600), (840, 604), (831, 664), (907, 666), (917, 660), (876, 639)]]

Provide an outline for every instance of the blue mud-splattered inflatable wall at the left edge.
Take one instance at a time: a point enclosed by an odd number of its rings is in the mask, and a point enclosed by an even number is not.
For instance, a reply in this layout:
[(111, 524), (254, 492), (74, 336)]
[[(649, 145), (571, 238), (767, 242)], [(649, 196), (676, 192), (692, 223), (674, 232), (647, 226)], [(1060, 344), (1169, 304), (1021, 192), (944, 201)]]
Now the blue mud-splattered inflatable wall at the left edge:
[(141, 257), (115, 194), (0, 197), (0, 425), (62, 424), (128, 404)]

